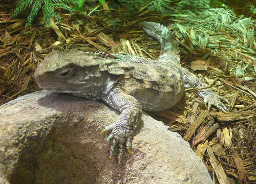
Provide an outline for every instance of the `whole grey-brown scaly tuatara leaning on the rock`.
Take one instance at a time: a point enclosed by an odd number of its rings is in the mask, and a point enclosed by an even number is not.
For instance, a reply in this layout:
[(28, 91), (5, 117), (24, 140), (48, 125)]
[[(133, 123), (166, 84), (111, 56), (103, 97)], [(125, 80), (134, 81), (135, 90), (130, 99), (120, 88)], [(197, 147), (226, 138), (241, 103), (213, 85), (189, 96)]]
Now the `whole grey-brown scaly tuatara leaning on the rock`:
[[(120, 112), (116, 123), (105, 127), (106, 141), (113, 141), (110, 158), (119, 148), (119, 164), (123, 146), (132, 153), (133, 132), (141, 121), (142, 109), (161, 111), (179, 102), (184, 87), (205, 87), (194, 74), (180, 65), (178, 44), (172, 33), (155, 22), (143, 22), (144, 31), (161, 44), (157, 60), (129, 54), (113, 54), (111, 59), (89, 52), (53, 52), (42, 61), (34, 73), (40, 88), (68, 93), (92, 100), (101, 100)], [(226, 99), (210, 89), (197, 94), (208, 104), (227, 111), (221, 102)]]

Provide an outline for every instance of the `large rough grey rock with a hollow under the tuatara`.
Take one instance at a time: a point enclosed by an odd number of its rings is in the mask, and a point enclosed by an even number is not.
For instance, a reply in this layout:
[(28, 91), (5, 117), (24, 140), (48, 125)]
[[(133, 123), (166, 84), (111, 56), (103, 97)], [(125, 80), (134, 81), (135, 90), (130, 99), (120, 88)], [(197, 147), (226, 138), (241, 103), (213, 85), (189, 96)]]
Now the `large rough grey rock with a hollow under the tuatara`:
[(212, 183), (189, 144), (143, 114), (127, 163), (110, 160), (103, 103), (47, 91), (0, 106), (0, 183)]

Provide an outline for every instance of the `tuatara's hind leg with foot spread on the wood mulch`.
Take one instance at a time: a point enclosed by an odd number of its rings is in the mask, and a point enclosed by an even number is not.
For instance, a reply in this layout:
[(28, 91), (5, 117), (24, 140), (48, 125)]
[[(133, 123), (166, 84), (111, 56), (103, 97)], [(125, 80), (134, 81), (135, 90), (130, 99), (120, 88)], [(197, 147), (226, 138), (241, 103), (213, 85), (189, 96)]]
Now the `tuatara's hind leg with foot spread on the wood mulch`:
[[(203, 83), (196, 75), (190, 73), (186, 68), (182, 68), (182, 76), (185, 88), (201, 88), (207, 86), (207, 84)], [(210, 107), (214, 105), (223, 112), (228, 112), (227, 107), (222, 103), (222, 101), (229, 103), (228, 100), (223, 97), (220, 97), (211, 89), (200, 89), (197, 90), (196, 93), (204, 99), (205, 106), (208, 110), (210, 110)]]

